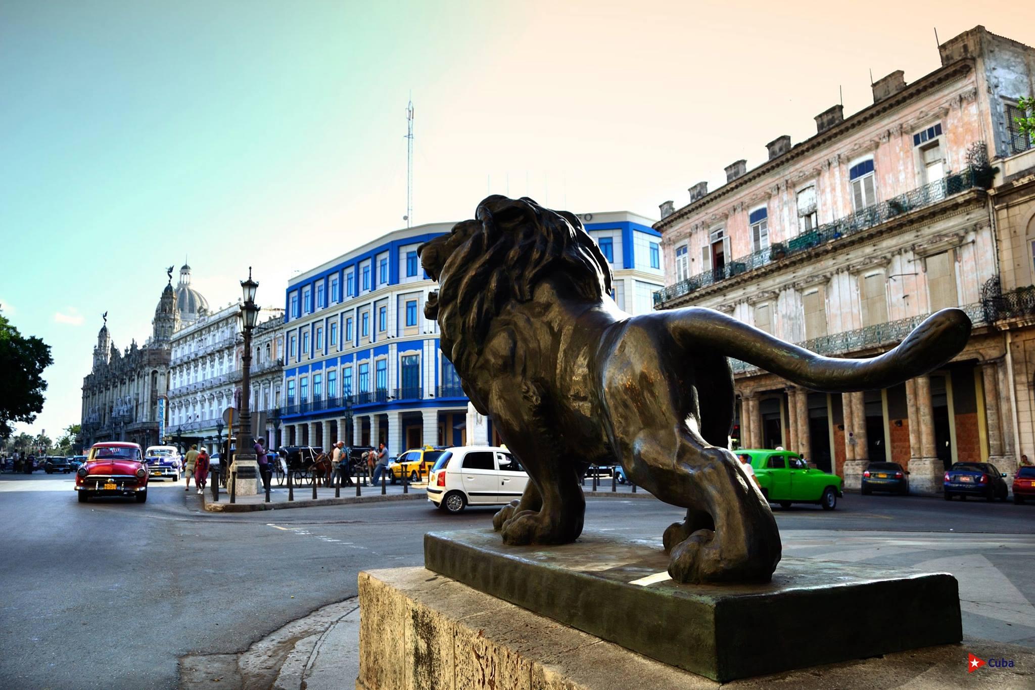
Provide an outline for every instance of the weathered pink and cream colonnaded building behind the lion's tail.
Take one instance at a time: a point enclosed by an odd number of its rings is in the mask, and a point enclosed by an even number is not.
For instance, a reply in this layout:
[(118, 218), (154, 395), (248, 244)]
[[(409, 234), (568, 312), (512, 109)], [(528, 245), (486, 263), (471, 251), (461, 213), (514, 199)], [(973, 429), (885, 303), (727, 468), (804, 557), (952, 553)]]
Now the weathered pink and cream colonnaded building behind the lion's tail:
[(849, 118), (839, 106), (817, 116), (805, 142), (770, 142), (762, 164), (732, 163), (718, 189), (693, 185), (678, 210), (666, 202), (655, 224), (667, 276), (656, 308), (713, 307), (847, 357), (893, 348), (938, 309), (970, 314), (963, 353), (886, 390), (818, 393), (734, 362), (732, 443), (801, 452), (849, 487), (869, 461), (899, 462), (914, 490), (937, 492), (953, 461), (1012, 471), (1018, 447), (1032, 453), (1013, 433), (1030, 413), (1011, 392), (1030, 380), (1011, 373), (1009, 337), (984, 307), (1003, 263), (989, 188), (1035, 53), (977, 27), (940, 55), (913, 83), (901, 71), (876, 82), (874, 104)]

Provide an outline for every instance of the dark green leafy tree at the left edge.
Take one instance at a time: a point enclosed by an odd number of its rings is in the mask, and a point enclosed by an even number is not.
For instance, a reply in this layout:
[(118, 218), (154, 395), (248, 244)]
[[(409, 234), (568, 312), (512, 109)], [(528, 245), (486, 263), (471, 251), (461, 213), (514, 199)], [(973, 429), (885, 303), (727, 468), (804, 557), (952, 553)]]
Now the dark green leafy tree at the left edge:
[(11, 423), (32, 422), (43, 409), (43, 369), (54, 363), (51, 347), (35, 336), (23, 337), (0, 313), (0, 438)]

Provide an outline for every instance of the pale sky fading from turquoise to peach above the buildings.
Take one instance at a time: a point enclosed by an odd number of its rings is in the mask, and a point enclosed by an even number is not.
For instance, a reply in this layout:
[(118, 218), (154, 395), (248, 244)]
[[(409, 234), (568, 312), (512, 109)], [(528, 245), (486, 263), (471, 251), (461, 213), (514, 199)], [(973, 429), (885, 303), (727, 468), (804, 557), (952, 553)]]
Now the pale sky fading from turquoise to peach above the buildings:
[(213, 307), (252, 266), (283, 307), (405, 227), (410, 98), (414, 223), (487, 193), (657, 218), (978, 24), (1035, 44), (1032, 3), (0, 0), (0, 308), (54, 357), (16, 433), (79, 422), (100, 314), (143, 343), (168, 266)]

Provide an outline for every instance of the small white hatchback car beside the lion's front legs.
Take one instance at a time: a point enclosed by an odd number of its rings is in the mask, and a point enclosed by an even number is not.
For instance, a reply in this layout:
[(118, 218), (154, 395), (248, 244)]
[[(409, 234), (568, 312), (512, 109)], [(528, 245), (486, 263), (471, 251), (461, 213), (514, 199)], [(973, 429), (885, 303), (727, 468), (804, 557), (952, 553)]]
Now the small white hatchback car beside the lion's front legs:
[(495, 506), (520, 499), (528, 474), (506, 449), (457, 446), (445, 450), (427, 479), (427, 500), (459, 513), (468, 505)]

